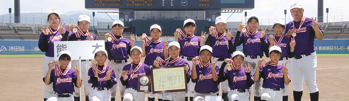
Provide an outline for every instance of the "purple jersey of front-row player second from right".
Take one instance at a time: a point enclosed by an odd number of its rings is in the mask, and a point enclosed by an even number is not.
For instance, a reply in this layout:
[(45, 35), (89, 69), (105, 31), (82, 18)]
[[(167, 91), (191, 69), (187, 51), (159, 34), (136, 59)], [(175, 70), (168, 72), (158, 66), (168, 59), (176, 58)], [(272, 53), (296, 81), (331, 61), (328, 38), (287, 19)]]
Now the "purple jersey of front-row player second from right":
[[(242, 67), (240, 70), (224, 71), (224, 73), (226, 73), (230, 78), (230, 82), (231, 82), (229, 83), (230, 90), (250, 89), (250, 86), (248, 86), (246, 83), (247, 76), (246, 76), (245, 70), (246, 68)], [(251, 77), (251, 82), (254, 83), (251, 73), (250, 73), (250, 77)]]

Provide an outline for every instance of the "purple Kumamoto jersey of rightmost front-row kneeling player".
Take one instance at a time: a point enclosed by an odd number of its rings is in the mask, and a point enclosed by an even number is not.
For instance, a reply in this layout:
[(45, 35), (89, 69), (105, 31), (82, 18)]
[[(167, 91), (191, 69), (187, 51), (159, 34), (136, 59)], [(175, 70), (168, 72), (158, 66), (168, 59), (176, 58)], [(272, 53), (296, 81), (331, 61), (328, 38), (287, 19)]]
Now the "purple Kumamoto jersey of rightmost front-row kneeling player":
[[(263, 88), (284, 88), (284, 74), (282, 72), (282, 65), (271, 66), (265, 65), (259, 68), (259, 72), (261, 77), (263, 77)], [(288, 75), (288, 72), (287, 72)]]

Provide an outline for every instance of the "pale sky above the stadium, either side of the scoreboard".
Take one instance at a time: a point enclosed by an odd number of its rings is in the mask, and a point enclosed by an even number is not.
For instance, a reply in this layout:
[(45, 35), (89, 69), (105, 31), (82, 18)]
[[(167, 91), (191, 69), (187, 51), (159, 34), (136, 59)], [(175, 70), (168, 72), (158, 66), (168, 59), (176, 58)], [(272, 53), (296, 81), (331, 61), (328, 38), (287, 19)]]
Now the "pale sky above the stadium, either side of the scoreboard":
[[(247, 16), (257, 15), (259, 19), (275, 19), (285, 18), (284, 10), (287, 10), (286, 18), (289, 19), (290, 4), (295, 1), (302, 1), (304, 7), (304, 15), (306, 17), (317, 16), (318, 0), (255, 0), (254, 9), (247, 11)], [(326, 8), (329, 8), (328, 16), (349, 15), (348, 0), (324, 0), (324, 16), (326, 16)], [(14, 0), (2, 0), (0, 7), (0, 15), (8, 13), (8, 8), (12, 8), (14, 12)], [(68, 11), (111, 11), (111, 10), (87, 10), (85, 9), (85, 0), (21, 0), (21, 13), (30, 12), (49, 12), (50, 10), (58, 10), (61, 14)], [(244, 12), (233, 13), (228, 21), (245, 21)], [(117, 13), (111, 13), (117, 15)], [(222, 16), (229, 17), (231, 13), (222, 13)], [(330, 18), (330, 17), (329, 17)], [(337, 18), (336, 18), (337, 19)]]

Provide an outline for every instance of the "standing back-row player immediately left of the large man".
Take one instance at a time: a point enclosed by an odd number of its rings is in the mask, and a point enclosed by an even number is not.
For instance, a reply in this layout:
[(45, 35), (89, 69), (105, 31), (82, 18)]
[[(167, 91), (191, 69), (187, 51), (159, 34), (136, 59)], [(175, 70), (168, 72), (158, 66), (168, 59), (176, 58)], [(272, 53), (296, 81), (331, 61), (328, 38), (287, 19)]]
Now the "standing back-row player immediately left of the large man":
[[(278, 46), (281, 48), (281, 58), (279, 64), (290, 64), (290, 57), (293, 57), (296, 41), (294, 38), (285, 37), (283, 34), (285, 30), (284, 21), (281, 19), (276, 19), (273, 24), (273, 30), (275, 31), (274, 35), (268, 37), (269, 48), (272, 46)], [(291, 66), (288, 65), (288, 73), (291, 77)], [(288, 85), (285, 84), (285, 88), (282, 93), (282, 101), (288, 101)]]

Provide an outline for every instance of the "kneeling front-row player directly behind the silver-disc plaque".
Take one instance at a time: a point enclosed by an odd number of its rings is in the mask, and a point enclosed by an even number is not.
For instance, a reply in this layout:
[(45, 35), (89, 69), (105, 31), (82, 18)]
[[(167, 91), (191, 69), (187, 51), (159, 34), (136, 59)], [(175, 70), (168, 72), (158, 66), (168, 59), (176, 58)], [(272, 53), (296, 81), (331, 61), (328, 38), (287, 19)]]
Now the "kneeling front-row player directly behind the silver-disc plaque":
[(149, 91), (137, 92), (137, 76), (151, 75), (150, 67), (141, 62), (141, 47), (132, 47), (130, 57), (132, 58), (133, 62), (131, 62), (131, 64), (125, 65), (121, 71), (120, 81), (122, 85), (126, 86), (123, 101), (145, 101), (147, 99), (146, 93), (149, 93)]

